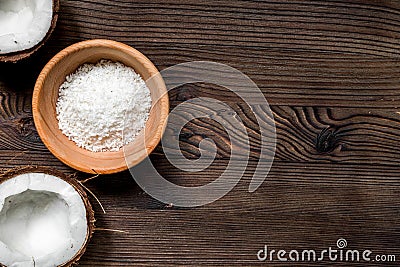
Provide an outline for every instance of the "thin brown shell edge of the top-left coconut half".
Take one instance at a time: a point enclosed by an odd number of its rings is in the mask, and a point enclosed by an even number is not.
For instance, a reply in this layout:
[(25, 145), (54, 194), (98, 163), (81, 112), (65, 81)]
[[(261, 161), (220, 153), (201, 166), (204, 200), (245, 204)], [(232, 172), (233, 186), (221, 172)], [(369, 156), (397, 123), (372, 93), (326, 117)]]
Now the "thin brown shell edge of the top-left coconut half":
[(21, 59), (30, 57), (33, 53), (38, 51), (39, 48), (41, 48), (50, 38), (50, 35), (56, 28), (59, 9), (60, 9), (60, 0), (53, 0), (53, 17), (51, 19), (51, 25), (46, 36), (43, 38), (42, 41), (40, 41), (40, 43), (26, 50), (0, 55), (0, 62), (17, 62)]

